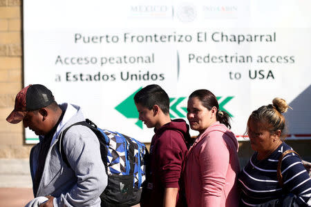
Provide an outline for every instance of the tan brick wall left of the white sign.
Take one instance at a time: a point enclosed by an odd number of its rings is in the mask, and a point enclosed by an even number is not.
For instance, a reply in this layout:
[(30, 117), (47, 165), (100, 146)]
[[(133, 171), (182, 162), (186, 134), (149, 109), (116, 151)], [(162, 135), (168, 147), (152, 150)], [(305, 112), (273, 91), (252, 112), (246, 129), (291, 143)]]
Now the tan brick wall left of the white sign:
[(8, 124), (15, 95), (23, 85), (22, 1), (0, 0), (0, 158), (27, 158), (22, 124)]

